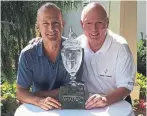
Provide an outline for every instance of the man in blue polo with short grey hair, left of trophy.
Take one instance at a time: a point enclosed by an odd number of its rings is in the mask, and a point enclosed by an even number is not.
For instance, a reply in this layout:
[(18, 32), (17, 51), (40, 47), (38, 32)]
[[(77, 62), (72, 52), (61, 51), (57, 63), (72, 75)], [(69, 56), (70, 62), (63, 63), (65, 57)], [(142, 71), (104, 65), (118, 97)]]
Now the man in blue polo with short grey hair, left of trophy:
[(20, 54), (17, 98), (44, 110), (60, 109), (61, 104), (55, 99), (58, 88), (70, 79), (60, 54), (64, 26), (61, 10), (52, 3), (42, 5), (37, 12), (37, 24), (42, 38)]

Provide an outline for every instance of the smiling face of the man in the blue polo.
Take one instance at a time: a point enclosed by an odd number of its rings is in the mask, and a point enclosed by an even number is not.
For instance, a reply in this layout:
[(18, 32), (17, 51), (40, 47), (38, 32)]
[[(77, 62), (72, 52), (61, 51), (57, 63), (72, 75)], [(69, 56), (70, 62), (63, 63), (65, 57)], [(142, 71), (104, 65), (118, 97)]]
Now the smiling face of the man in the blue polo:
[(58, 41), (61, 39), (63, 19), (55, 8), (46, 8), (38, 16), (38, 26), (43, 41)]

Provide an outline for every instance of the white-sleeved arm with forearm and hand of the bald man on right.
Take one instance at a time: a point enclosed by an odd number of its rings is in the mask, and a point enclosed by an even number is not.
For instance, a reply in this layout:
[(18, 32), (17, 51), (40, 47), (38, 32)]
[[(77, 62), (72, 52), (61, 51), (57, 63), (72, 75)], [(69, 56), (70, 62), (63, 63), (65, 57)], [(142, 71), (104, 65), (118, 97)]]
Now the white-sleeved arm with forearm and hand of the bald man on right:
[(86, 108), (105, 107), (128, 96), (133, 89), (135, 80), (135, 65), (132, 54), (127, 45), (120, 49), (116, 65), (116, 86), (117, 89), (102, 97), (98, 94), (91, 96), (86, 102)]

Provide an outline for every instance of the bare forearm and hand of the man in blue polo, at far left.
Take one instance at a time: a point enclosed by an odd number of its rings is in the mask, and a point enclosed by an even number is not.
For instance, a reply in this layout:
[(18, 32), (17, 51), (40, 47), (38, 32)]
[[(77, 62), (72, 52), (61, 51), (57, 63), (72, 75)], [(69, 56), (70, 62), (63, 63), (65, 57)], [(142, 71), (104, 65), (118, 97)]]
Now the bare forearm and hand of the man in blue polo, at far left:
[(17, 99), (24, 103), (30, 103), (41, 107), (44, 110), (49, 109), (60, 109), (61, 104), (52, 97), (38, 97), (31, 93), (28, 89), (25, 89), (19, 85), (16, 86), (16, 96)]

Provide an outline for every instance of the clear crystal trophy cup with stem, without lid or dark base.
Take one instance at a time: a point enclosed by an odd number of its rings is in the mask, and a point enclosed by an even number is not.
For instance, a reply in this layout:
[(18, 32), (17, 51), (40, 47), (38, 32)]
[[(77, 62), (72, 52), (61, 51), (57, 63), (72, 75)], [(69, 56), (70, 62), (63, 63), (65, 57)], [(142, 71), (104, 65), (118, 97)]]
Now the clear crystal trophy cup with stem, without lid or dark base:
[(61, 51), (61, 55), (64, 67), (71, 76), (70, 84), (73, 86), (77, 85), (77, 82), (75, 81), (75, 75), (81, 66), (82, 49), (76, 46), (63, 48)]

